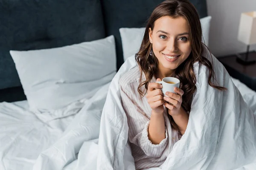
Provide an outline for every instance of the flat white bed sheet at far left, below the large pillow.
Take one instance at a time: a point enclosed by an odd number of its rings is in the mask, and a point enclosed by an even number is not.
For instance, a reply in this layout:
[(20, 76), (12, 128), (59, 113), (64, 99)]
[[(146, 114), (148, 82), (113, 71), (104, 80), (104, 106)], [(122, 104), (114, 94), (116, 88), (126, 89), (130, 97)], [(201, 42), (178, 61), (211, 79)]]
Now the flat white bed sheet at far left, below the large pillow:
[(35, 114), (26, 100), (0, 103), (0, 170), (32, 170), (38, 155), (57, 141), (74, 116)]

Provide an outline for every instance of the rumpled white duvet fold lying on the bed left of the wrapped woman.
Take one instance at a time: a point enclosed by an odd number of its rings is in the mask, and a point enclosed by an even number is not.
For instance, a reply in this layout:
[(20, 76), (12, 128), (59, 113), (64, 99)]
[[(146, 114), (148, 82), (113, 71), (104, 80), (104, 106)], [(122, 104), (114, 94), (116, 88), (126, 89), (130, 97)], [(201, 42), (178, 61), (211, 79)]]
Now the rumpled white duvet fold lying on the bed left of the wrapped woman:
[(39, 155), (33, 170), (96, 169), (99, 125), (109, 85), (103, 85), (77, 113), (58, 141)]

